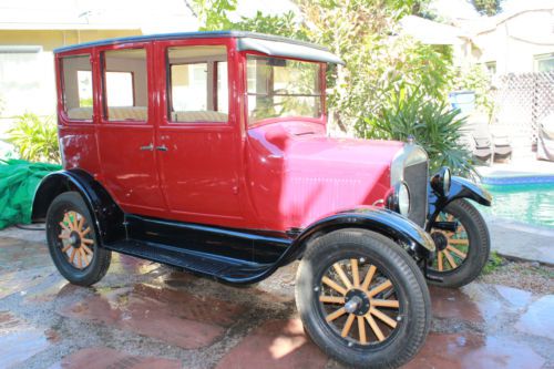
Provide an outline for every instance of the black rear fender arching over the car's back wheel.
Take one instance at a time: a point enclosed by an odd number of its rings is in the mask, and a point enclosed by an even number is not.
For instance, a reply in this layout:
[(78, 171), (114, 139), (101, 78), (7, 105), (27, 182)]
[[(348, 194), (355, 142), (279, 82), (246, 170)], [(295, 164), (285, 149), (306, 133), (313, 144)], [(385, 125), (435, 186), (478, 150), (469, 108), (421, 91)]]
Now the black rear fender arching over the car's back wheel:
[(68, 191), (81, 194), (94, 217), (101, 244), (124, 238), (124, 215), (107, 191), (88, 172), (79, 168), (53, 172), (42, 178), (33, 198), (32, 219), (44, 221), (52, 201)]

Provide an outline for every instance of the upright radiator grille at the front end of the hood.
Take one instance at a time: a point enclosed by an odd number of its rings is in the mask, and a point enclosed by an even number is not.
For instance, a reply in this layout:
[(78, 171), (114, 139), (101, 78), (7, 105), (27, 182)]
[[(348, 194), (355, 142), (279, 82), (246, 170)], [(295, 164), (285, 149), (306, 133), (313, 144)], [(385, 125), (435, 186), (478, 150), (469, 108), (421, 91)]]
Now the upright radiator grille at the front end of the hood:
[(404, 182), (410, 191), (410, 213), (408, 217), (419, 226), (425, 225), (428, 162), (404, 167)]

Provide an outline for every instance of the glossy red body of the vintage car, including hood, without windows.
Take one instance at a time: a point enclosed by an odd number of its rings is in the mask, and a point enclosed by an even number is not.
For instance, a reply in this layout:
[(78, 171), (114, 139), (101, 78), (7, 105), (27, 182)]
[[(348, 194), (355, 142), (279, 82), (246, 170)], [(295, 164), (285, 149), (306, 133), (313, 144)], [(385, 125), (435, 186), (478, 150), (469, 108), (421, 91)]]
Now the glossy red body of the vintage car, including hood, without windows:
[[(224, 45), (228, 58), (228, 122), (175, 124), (167, 114), (166, 50)], [(107, 121), (100, 54), (144, 48), (147, 53), (146, 122)], [(400, 142), (330, 139), (325, 109), (318, 117), (280, 117), (247, 125), (246, 58), (237, 39), (155, 38), (80, 45), (61, 60), (90, 55), (92, 122), (72, 121), (58, 79), (58, 121), (65, 170), (90, 173), (130, 214), (225, 227), (286, 232), (339, 211), (373, 205), (391, 187)], [(325, 103), (326, 63), (319, 83)], [(144, 146), (167, 151), (141, 151)], [(381, 202), (382, 204), (382, 202)]]

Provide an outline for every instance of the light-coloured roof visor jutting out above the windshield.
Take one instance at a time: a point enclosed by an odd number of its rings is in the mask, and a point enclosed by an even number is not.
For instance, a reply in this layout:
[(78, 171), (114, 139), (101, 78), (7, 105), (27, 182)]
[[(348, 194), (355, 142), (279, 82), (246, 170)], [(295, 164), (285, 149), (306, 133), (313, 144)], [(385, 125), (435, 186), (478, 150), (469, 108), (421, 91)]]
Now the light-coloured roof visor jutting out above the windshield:
[(240, 38), (237, 39), (237, 50), (257, 51), (270, 57), (295, 58), (345, 65), (345, 62), (340, 58), (325, 49), (317, 49), (297, 43)]

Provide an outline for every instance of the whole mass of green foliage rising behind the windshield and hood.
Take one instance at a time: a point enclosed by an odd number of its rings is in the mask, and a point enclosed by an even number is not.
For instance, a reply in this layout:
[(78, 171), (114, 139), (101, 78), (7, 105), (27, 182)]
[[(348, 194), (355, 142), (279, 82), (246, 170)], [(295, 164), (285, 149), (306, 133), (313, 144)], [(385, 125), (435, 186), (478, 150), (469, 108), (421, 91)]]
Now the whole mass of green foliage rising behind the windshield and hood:
[[(225, 24), (308, 40), (339, 55), (346, 65), (328, 71), (327, 105), (331, 125), (340, 131), (367, 139), (413, 135), (428, 151), (431, 168), (449, 165), (456, 174), (473, 173), (471, 154), (459, 142), (463, 121), (447, 102), (455, 72), (451, 48), (399, 35), (398, 21), (425, 14), (428, 0), (296, 0), (300, 19), (257, 12), (237, 22), (228, 19), (236, 0), (220, 0), (223, 4), (213, 9), (205, 8), (207, 0), (192, 1), (195, 9), (212, 13), (199, 17), (204, 29)], [(480, 81), (469, 79), (464, 86), (476, 89)]]

